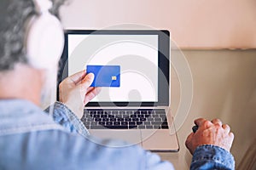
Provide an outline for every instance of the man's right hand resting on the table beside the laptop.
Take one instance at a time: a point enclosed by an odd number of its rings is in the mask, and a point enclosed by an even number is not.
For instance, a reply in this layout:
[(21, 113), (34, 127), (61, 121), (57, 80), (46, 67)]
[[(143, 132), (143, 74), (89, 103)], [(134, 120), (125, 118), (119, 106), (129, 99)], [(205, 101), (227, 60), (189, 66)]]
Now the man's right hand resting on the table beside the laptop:
[(195, 124), (198, 130), (190, 133), (185, 143), (192, 155), (197, 146), (202, 144), (212, 144), (230, 151), (234, 134), (230, 133), (229, 125), (222, 124), (218, 119), (210, 122), (203, 118), (196, 119)]

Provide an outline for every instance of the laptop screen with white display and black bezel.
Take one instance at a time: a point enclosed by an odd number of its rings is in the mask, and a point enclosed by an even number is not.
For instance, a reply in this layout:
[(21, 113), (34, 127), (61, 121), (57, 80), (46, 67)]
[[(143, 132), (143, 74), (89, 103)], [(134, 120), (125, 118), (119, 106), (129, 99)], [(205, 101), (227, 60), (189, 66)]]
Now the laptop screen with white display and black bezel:
[[(161, 39), (165, 39), (165, 44)], [(88, 105), (166, 103), (169, 98), (166, 97), (169, 94), (167, 39), (169, 34), (165, 31), (66, 31), (62, 61), (64, 58), (67, 63), (63, 75), (71, 76), (88, 69), (88, 65), (119, 68), (119, 77), (113, 77), (118, 81), (117, 86), (102, 87), (101, 93)], [(100, 78), (97, 80), (101, 82)]]

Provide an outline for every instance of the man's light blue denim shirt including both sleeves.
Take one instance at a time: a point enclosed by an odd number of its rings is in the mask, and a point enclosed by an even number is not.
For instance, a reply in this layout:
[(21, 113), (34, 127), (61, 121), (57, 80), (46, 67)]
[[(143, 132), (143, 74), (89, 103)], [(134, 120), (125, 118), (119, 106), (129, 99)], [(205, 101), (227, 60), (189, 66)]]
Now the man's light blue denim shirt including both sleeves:
[[(173, 169), (137, 145), (106, 146), (120, 143), (90, 136), (61, 103), (48, 114), (26, 100), (0, 100), (0, 169)], [(234, 169), (234, 158), (222, 148), (203, 145), (190, 168)]]

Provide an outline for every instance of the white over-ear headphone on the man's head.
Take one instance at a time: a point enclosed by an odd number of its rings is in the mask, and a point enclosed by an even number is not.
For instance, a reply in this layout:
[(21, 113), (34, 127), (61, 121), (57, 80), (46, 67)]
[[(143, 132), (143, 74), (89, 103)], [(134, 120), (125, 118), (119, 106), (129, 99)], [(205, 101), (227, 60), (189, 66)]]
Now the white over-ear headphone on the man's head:
[(57, 65), (64, 47), (60, 20), (49, 13), (52, 2), (33, 0), (38, 15), (27, 21), (25, 48), (29, 64), (38, 69)]

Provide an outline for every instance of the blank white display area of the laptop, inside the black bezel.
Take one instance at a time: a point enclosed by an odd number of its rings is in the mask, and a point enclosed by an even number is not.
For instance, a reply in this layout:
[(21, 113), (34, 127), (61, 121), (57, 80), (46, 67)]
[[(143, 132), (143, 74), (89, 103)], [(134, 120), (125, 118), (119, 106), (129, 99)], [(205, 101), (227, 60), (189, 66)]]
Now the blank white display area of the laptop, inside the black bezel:
[(68, 35), (68, 76), (86, 65), (120, 65), (120, 87), (92, 101), (158, 101), (158, 35)]

